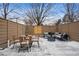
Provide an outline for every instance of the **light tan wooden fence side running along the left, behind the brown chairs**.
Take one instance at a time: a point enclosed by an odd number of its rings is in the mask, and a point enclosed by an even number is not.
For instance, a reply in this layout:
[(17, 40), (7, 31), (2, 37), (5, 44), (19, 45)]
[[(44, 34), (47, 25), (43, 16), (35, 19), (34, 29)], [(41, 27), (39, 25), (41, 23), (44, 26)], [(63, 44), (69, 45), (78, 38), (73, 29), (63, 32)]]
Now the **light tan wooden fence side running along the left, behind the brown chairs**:
[(8, 40), (13, 36), (25, 34), (25, 26), (16, 22), (0, 19), (0, 47), (8, 46)]

